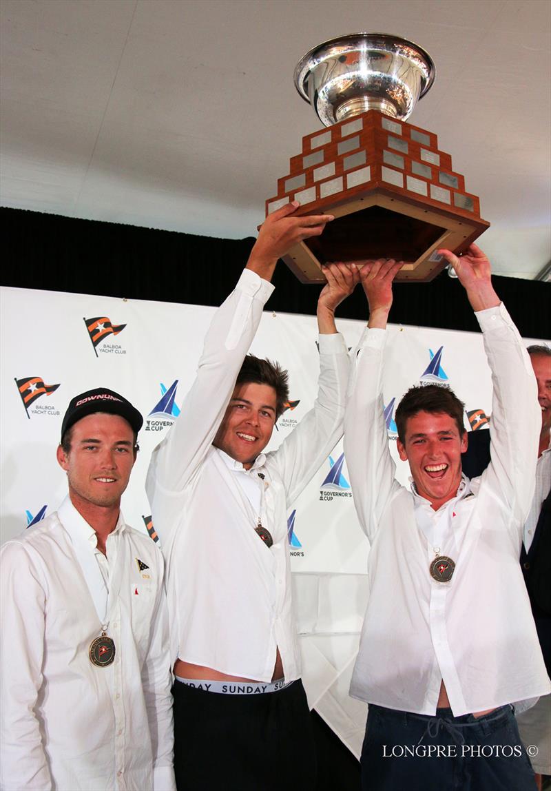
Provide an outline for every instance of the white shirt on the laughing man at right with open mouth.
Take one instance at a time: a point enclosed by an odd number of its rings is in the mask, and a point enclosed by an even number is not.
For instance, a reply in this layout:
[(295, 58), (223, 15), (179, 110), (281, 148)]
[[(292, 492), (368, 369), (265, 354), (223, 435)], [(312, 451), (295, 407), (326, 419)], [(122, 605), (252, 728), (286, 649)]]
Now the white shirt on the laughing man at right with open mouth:
[(372, 547), (350, 694), (389, 709), (434, 714), (442, 680), (456, 717), (551, 689), (519, 566), (542, 421), (534, 373), (503, 305), (476, 316), (493, 376), (492, 462), (449, 514), (453, 548), (444, 540), (439, 554), (456, 567), (445, 584), (428, 571), (435, 551), (417, 524), (416, 498), (394, 479), (385, 331), (365, 331), (351, 376), (345, 454)]

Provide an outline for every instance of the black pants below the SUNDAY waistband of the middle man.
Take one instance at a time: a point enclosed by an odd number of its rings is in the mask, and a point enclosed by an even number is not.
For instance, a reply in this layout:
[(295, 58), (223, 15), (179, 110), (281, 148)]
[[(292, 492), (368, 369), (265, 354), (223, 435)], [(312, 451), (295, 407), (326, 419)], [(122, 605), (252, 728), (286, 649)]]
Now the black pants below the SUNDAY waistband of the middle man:
[(250, 695), (176, 681), (172, 694), (178, 791), (315, 789), (315, 745), (300, 680)]

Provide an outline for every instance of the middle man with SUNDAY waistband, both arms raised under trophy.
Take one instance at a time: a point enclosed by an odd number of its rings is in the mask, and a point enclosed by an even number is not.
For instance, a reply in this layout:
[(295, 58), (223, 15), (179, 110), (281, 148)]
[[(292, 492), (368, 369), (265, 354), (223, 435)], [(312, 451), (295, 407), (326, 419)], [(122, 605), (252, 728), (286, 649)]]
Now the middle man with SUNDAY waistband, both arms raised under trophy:
[(318, 399), (281, 447), (264, 454), (289, 398), (286, 373), (245, 355), (277, 259), (332, 219), (296, 217), (296, 206), (262, 225), (209, 327), (181, 414), (149, 467), (153, 521), (168, 559), (179, 791), (315, 788), (287, 515), (342, 436), (349, 358), (334, 310), (356, 285), (357, 270), (326, 268)]

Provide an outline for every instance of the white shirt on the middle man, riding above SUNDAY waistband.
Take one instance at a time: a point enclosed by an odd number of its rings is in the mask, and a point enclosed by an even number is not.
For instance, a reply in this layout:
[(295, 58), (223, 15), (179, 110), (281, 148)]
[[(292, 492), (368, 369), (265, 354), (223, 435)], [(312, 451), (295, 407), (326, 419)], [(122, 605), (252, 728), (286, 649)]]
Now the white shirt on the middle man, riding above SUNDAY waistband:
[[(167, 559), (173, 659), (270, 681), (278, 647), (285, 679), (292, 681), (300, 676), (300, 652), (287, 513), (342, 435), (349, 357), (342, 335), (320, 336), (322, 373), (314, 408), (277, 451), (260, 454), (250, 471), (214, 448), (272, 290), (245, 270), (218, 309), (179, 418), (153, 451), (146, 489)], [(237, 475), (251, 480), (240, 484)], [(255, 532), (259, 480), (262, 525), (274, 539), (270, 548)]]

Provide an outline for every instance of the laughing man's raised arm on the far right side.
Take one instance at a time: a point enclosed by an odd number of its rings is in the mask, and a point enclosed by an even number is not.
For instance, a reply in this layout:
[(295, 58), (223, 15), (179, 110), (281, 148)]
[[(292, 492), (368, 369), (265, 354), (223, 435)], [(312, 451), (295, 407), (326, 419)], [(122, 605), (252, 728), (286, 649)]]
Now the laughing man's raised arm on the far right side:
[(534, 370), (519, 331), (492, 285), (491, 265), (471, 244), (465, 255), (439, 250), (457, 272), (481, 326), (492, 371), (492, 460), (483, 473), (490, 496), (500, 494), (515, 532), (530, 510), (542, 414)]

